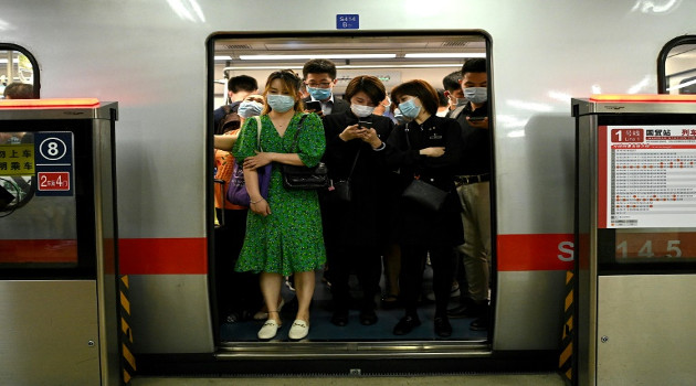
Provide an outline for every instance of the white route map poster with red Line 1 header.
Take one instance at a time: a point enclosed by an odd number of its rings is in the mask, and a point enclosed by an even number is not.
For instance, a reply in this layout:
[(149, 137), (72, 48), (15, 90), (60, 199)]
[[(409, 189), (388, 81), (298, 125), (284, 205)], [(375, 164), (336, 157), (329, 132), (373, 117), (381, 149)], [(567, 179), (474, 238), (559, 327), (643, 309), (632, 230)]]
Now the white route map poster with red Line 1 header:
[(599, 227), (696, 227), (696, 126), (600, 126)]

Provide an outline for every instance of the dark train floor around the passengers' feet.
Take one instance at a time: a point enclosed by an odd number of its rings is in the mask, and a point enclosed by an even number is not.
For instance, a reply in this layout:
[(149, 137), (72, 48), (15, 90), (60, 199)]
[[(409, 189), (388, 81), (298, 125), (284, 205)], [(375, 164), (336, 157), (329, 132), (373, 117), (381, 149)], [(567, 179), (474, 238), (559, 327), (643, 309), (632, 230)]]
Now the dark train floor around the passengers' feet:
[[(359, 310), (356, 308), (350, 310), (348, 324), (345, 326), (337, 326), (331, 324), (330, 318), (333, 314), (331, 293), (330, 288), (326, 282), (321, 280), (321, 272), (316, 275), (317, 283), (314, 294), (314, 300), (310, 309), (310, 329), (309, 335), (306, 341), (316, 342), (360, 342), (360, 341), (403, 341), (403, 340), (418, 340), (418, 341), (431, 341), (443, 340), (434, 332), (433, 315), (434, 303), (429, 300), (432, 299), (432, 270), (430, 266), (426, 266), (424, 271), (423, 282), (423, 301), (419, 307), (419, 317), (421, 319), (421, 325), (413, 329), (413, 331), (403, 336), (397, 336), (392, 333), (393, 326), (399, 322), (399, 319), (403, 317), (402, 308), (394, 308), (386, 310), (379, 305), (378, 300), (378, 322), (373, 325), (362, 325), (359, 321)], [(359, 297), (359, 285), (351, 276), (350, 282), (351, 289), (355, 289), (354, 297)], [(380, 282), (380, 287), (384, 288), (383, 279)], [(458, 291), (457, 291), (458, 292)], [(456, 294), (456, 292), (455, 292)], [(286, 286), (283, 286), (283, 298), (286, 302), (292, 302), (295, 297)], [(453, 296), (450, 301), (450, 307), (458, 305), (458, 296)], [(283, 326), (278, 330), (278, 334), (274, 341), (288, 341), (287, 333), (289, 325), (293, 322), (295, 314), (292, 305), (286, 305), (281, 310), (281, 318), (283, 319)], [(449, 341), (468, 341), (468, 342), (485, 342), (487, 339), (486, 331), (472, 331), (468, 326), (473, 321), (471, 318), (451, 319), (452, 336), (444, 340)], [(233, 344), (234, 342), (257, 342), (256, 333), (263, 325), (264, 321), (247, 321), (238, 323), (223, 323), (220, 328), (221, 341)]]

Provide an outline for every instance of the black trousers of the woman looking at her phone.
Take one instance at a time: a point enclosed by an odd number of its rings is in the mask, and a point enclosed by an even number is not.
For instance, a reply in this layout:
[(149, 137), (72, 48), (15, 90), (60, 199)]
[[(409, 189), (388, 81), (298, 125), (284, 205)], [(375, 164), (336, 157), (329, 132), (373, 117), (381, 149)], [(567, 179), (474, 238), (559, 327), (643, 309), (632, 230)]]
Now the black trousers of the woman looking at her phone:
[(336, 311), (350, 307), (350, 272), (355, 271), (362, 287), (361, 309), (375, 309), (375, 296), (379, 291), (382, 275), (381, 249), (377, 246), (341, 246), (334, 250), (329, 261), (331, 294)]

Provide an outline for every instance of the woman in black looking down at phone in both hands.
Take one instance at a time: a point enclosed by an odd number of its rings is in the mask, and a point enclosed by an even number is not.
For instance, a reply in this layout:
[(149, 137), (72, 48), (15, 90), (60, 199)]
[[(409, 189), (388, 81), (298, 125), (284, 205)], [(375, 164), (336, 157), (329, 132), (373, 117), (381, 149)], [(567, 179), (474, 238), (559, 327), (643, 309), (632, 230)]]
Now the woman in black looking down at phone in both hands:
[[(358, 76), (346, 88), (350, 110), (324, 119), (324, 159), (334, 183), (324, 205), (325, 243), (335, 307), (331, 323), (339, 326), (348, 323), (348, 278), (354, 269), (363, 292), (360, 323), (377, 322), (375, 296), (381, 276), (380, 256), (390, 236), (383, 207), (392, 179), (389, 174), (393, 174), (384, 164), (382, 141), (389, 137), (393, 122), (372, 111), (386, 95), (377, 77)], [(349, 186), (350, 201), (340, 197), (339, 184)]]

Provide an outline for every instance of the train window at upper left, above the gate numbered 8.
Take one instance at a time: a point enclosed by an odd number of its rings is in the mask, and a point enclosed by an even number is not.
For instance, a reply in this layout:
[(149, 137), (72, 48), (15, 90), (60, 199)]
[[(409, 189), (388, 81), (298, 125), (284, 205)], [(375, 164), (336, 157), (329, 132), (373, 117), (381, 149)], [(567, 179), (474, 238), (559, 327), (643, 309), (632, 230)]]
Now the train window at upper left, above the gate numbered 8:
[(0, 43), (0, 99), (39, 98), (39, 65), (33, 55), (19, 45)]

